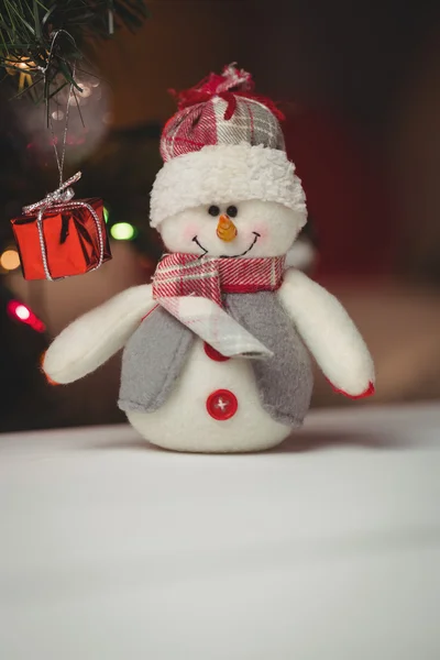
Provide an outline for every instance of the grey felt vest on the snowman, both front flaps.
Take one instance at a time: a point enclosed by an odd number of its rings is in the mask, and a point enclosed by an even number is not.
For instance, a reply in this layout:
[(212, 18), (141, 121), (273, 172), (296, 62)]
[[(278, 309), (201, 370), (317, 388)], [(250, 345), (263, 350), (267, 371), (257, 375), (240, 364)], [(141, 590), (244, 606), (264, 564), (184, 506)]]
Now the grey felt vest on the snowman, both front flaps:
[[(300, 426), (314, 385), (310, 359), (277, 295), (227, 294), (224, 307), (274, 353), (266, 360), (251, 360), (263, 408), (280, 424)], [(121, 410), (157, 410), (167, 400), (197, 339), (162, 307), (150, 314), (123, 351)]]

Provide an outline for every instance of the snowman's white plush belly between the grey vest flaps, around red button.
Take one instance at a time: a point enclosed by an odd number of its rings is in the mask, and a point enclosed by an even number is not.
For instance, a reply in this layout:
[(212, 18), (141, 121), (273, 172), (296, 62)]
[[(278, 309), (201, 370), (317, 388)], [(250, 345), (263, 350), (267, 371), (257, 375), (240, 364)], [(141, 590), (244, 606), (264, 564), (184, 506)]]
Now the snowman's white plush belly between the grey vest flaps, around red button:
[[(208, 396), (218, 389), (233, 392), (239, 400), (231, 419), (212, 419), (206, 409)], [(150, 442), (176, 451), (261, 451), (292, 432), (260, 405), (250, 361), (216, 362), (206, 354), (201, 340), (194, 343), (168, 400), (155, 413), (130, 411), (127, 417)]]

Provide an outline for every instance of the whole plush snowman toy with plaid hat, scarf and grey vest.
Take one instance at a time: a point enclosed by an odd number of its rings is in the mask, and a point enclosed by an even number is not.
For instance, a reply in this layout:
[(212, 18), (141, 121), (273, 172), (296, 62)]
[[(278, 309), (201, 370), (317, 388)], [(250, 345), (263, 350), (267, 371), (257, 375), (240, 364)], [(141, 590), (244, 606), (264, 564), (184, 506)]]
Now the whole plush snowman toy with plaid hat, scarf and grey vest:
[(309, 352), (352, 398), (374, 393), (374, 366), (338, 300), (285, 265), (307, 211), (276, 107), (235, 66), (178, 101), (152, 190), (166, 246), (153, 283), (74, 321), (43, 370), (70, 383), (123, 348), (119, 407), (147, 441), (265, 450), (302, 425)]

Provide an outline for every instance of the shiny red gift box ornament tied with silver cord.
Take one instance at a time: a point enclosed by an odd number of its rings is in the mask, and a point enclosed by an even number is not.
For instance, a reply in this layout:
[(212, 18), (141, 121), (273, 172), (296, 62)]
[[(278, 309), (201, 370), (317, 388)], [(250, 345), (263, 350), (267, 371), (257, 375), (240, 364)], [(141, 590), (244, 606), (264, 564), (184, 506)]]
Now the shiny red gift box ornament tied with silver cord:
[(59, 279), (96, 271), (111, 258), (99, 198), (74, 200), (78, 172), (11, 220), (25, 279)]

